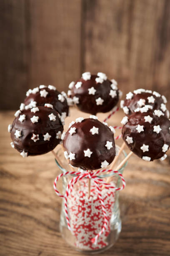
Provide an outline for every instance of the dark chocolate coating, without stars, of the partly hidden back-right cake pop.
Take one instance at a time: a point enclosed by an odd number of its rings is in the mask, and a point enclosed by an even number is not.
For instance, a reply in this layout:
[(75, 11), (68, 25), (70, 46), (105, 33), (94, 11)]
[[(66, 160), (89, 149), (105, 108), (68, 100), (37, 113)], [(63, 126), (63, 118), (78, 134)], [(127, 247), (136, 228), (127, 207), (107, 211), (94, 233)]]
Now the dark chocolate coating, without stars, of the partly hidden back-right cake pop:
[[(151, 96), (153, 96), (155, 98), (155, 102), (154, 103), (151, 103), (148, 100), (148, 97), (151, 97)], [(167, 116), (168, 115), (167, 110), (163, 111), (163, 109), (161, 109), (161, 104), (162, 103), (164, 104), (163, 98), (162, 97), (156, 97), (155, 95), (153, 95), (152, 93), (149, 93), (149, 92), (141, 92), (141, 93), (138, 93), (138, 94), (133, 93), (133, 98), (132, 99), (130, 99), (130, 100), (125, 99), (123, 107), (127, 106), (128, 109), (129, 109), (129, 113), (126, 114), (126, 115), (129, 116), (132, 113), (134, 113), (135, 109), (141, 108), (140, 105), (138, 104), (138, 101), (140, 99), (144, 99), (145, 100), (145, 105), (152, 106), (153, 107), (153, 111), (154, 110), (161, 110), (165, 114), (165, 116), (168, 117)], [(145, 105), (143, 105), (142, 107), (144, 107)]]

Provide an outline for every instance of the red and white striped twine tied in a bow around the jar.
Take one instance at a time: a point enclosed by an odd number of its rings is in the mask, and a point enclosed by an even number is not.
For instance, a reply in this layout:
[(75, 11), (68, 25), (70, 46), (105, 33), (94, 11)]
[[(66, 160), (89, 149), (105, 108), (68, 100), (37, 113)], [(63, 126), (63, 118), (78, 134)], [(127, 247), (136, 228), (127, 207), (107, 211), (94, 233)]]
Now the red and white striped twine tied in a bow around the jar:
[[(120, 176), (121, 180), (122, 180), (122, 187), (114, 187), (110, 183), (105, 183), (102, 179), (98, 178), (97, 174), (99, 174), (99, 173), (101, 174), (102, 172), (109, 172), (109, 173), (112, 173), (112, 174), (118, 174)], [(69, 175), (75, 174), (76, 176), (73, 177), (70, 180), (70, 182), (68, 183), (68, 185), (66, 187), (65, 195), (61, 195), (60, 192), (57, 190), (57, 181), (62, 176), (66, 176), (67, 174), (69, 174)], [(107, 213), (106, 213), (106, 210), (105, 210), (106, 208), (105, 208), (104, 200), (102, 199), (100, 185), (105, 185), (105, 188), (112, 188), (114, 190), (122, 190), (122, 189), (124, 189), (126, 183), (125, 183), (125, 179), (123, 178), (122, 174), (120, 172), (114, 171), (112, 169), (110, 169), (110, 170), (107, 170), (107, 169), (98, 170), (96, 172), (88, 172), (88, 171), (86, 171), (85, 173), (81, 173), (81, 172), (65, 172), (65, 173), (62, 173), (62, 174), (58, 175), (57, 178), (55, 179), (55, 182), (54, 182), (54, 190), (55, 190), (55, 193), (59, 197), (64, 197), (64, 199), (65, 199), (65, 202), (64, 202), (64, 205), (65, 205), (65, 218), (67, 220), (68, 229), (71, 232), (72, 232), (72, 230), (71, 230), (70, 219), (69, 219), (69, 214), (68, 214), (67, 198), (70, 195), (70, 193), (72, 192), (74, 184), (77, 181), (79, 181), (79, 180), (81, 180), (83, 178), (93, 179), (93, 181), (95, 182), (96, 188), (97, 188), (98, 197), (99, 197), (101, 205), (102, 205), (102, 212), (103, 212), (103, 215), (104, 215), (104, 224), (103, 224), (102, 230), (95, 236), (95, 238), (92, 238), (92, 240), (91, 240), (92, 243), (97, 244), (97, 239), (102, 235), (102, 233), (105, 232), (105, 230), (107, 228)]]

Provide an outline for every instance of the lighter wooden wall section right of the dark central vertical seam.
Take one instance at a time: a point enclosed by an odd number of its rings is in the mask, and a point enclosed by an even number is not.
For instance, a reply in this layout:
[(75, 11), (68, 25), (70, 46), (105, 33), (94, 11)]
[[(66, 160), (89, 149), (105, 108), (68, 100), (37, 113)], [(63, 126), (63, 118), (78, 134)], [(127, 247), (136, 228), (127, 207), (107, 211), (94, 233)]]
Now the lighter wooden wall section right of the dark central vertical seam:
[(158, 90), (170, 102), (170, 1), (84, 3), (84, 69), (117, 79), (124, 94)]

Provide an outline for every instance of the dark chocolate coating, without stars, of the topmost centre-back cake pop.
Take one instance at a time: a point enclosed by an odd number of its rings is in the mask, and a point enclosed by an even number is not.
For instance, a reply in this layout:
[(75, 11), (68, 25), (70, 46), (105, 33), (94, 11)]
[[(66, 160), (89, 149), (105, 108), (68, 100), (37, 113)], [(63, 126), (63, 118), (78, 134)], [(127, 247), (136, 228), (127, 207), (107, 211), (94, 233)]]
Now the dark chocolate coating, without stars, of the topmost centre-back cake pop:
[[(85, 81), (84, 79), (80, 79), (77, 82), (82, 82), (82, 86), (80, 88), (76, 88), (75, 85), (71, 89), (71, 97), (79, 98), (79, 104), (76, 104), (77, 107), (85, 113), (90, 113), (92, 115), (96, 115), (98, 112), (106, 113), (115, 107), (119, 100), (118, 90), (116, 91), (116, 96), (112, 98), (109, 93), (112, 90), (110, 85), (112, 82), (110, 80), (104, 80), (102, 83), (96, 83), (95, 78), (97, 75), (91, 75), (90, 80)], [(77, 82), (75, 84), (77, 84)], [(89, 94), (88, 89), (94, 87), (96, 92), (95, 95)], [(99, 97), (104, 100), (102, 105), (96, 104), (96, 99)]]

